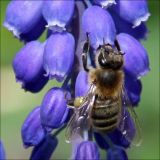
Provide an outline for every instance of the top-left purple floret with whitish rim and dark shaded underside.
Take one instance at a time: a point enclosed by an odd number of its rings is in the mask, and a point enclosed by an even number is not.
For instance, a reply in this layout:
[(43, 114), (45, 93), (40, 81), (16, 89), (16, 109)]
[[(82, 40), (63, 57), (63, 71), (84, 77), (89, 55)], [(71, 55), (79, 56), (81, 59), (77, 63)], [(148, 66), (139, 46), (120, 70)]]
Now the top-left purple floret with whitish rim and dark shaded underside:
[(11, 1), (6, 10), (4, 26), (17, 38), (31, 41), (45, 30), (43, 1)]

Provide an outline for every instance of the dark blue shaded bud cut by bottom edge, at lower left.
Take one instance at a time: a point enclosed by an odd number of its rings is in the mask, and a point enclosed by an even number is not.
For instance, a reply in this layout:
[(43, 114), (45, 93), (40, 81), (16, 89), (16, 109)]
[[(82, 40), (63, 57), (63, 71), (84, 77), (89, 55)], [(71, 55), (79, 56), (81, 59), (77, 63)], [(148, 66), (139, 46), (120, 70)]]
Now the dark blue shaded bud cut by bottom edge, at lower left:
[(47, 135), (45, 139), (34, 147), (30, 160), (49, 160), (58, 144), (57, 138)]

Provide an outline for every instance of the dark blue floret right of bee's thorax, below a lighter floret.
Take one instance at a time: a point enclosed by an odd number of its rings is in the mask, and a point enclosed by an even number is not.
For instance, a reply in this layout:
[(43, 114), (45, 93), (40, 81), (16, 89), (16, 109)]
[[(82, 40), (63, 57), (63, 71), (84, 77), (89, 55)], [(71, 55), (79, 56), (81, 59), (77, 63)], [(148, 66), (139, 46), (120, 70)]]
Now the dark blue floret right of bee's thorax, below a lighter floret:
[(131, 104), (133, 106), (138, 105), (142, 91), (141, 81), (125, 74), (125, 87)]

